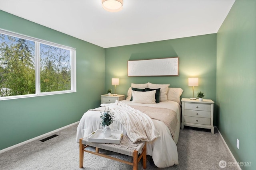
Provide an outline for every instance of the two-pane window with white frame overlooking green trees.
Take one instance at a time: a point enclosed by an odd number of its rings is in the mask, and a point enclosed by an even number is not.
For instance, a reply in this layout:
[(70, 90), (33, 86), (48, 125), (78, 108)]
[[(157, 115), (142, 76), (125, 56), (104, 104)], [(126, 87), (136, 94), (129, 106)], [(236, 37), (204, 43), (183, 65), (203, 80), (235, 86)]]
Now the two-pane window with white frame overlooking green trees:
[(76, 92), (76, 50), (0, 29), (0, 100)]

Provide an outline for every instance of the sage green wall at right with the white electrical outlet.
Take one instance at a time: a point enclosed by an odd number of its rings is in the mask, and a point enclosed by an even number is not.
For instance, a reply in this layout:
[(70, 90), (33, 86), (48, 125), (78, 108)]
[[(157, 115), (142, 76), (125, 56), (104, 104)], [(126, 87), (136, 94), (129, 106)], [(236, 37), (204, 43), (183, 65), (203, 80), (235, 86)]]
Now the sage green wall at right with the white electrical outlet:
[[(236, 0), (217, 33), (219, 130), (242, 169), (256, 169), (256, 1)], [(239, 150), (236, 148), (239, 139)]]

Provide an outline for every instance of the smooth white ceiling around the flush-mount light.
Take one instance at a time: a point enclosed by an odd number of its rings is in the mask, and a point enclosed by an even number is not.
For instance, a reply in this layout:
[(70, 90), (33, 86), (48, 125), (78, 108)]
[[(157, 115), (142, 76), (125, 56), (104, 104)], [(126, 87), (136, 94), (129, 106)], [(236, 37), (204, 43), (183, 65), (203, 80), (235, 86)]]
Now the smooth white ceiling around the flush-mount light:
[(235, 0), (124, 0), (107, 12), (101, 0), (0, 0), (0, 10), (100, 47), (217, 33)]

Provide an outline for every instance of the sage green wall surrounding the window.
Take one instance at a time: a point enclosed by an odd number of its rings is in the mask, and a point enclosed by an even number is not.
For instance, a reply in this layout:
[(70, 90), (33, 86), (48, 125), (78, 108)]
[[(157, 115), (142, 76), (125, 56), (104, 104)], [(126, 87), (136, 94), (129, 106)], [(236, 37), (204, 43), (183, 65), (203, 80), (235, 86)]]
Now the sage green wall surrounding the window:
[(76, 48), (77, 92), (0, 101), (0, 150), (79, 121), (100, 105), (105, 49), (0, 11), (0, 28)]

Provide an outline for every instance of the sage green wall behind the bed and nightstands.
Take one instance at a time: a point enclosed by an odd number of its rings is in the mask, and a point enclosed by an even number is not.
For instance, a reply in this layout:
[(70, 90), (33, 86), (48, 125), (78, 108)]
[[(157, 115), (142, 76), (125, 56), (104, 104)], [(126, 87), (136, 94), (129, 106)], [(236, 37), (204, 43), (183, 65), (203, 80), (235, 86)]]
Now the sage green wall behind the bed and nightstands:
[[(179, 57), (179, 76), (128, 77), (127, 61)], [(170, 84), (184, 90), (182, 97), (192, 97), (192, 87), (188, 77), (198, 77), (197, 92), (205, 93), (205, 98), (216, 101), (216, 34), (156, 41), (136, 45), (107, 48), (105, 52), (105, 93), (114, 86), (111, 78), (119, 78), (116, 86), (118, 94), (126, 94), (131, 83)], [(216, 121), (214, 121), (214, 124)]]

